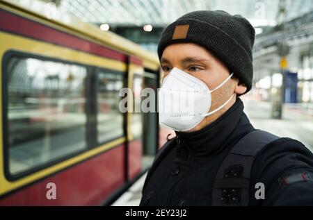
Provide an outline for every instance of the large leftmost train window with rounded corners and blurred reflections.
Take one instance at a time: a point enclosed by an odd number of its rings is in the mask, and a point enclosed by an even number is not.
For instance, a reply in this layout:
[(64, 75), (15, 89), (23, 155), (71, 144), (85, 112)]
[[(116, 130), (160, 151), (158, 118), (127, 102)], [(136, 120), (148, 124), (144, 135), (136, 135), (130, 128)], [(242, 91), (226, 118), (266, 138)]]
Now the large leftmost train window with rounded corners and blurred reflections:
[(7, 70), (10, 174), (84, 151), (86, 67), (13, 56)]

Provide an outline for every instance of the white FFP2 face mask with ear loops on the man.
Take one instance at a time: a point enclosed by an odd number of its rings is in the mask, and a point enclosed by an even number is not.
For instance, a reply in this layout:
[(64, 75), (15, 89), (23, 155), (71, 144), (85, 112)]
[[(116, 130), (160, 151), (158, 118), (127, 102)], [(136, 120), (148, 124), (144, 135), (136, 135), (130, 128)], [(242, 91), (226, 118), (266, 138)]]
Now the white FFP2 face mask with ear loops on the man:
[(200, 79), (176, 67), (173, 68), (163, 79), (163, 85), (159, 90), (159, 123), (174, 130), (191, 130), (200, 124), (204, 117), (224, 108), (232, 100), (235, 93), (223, 105), (209, 112), (211, 92), (223, 86), (232, 75), (230, 74), (214, 90), (209, 90)]

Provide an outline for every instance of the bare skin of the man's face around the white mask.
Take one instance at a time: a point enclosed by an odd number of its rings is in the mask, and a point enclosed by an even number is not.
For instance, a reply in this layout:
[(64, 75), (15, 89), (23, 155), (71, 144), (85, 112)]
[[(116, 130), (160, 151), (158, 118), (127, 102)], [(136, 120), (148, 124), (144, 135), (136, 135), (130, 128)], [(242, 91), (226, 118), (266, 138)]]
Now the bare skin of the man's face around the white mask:
[[(167, 46), (161, 57), (161, 67), (164, 71), (164, 77), (170, 73), (172, 68), (177, 67), (203, 81), (210, 90), (214, 90), (230, 76), (227, 67), (218, 58), (209, 53), (204, 47), (193, 43), (179, 43)], [(236, 78), (231, 78), (223, 87), (212, 92), (212, 103), (209, 112), (223, 105), (234, 92), (243, 94), (246, 92), (246, 87), (239, 85), (239, 81)], [(213, 115), (205, 117), (198, 126), (188, 130), (188, 132), (200, 130), (211, 124), (220, 115), (223, 115), (235, 101), (236, 97), (234, 96), (232, 101), (227, 103), (224, 108)]]

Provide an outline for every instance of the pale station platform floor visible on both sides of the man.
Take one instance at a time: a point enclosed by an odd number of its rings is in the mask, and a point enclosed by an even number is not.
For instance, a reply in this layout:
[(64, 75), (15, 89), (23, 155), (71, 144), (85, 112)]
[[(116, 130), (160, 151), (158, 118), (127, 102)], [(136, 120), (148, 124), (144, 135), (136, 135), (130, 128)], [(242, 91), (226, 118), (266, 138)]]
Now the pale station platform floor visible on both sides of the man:
[[(285, 104), (282, 119), (271, 119), (271, 105), (268, 102), (244, 99), (244, 112), (251, 124), (258, 129), (266, 130), (280, 137), (298, 139), (313, 152), (313, 114), (301, 105)], [(145, 183), (144, 174), (122, 194), (113, 206), (138, 206), (141, 201), (141, 190)]]

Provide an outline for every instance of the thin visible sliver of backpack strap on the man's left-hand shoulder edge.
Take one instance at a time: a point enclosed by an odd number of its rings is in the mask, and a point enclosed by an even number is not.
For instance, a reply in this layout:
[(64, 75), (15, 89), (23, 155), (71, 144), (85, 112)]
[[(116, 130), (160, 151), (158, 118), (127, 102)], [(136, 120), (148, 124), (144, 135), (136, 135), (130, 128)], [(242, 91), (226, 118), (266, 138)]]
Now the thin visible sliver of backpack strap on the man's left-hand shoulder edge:
[(152, 163), (152, 167), (149, 169), (149, 171), (147, 173), (147, 177), (145, 178), (145, 183), (143, 185), (143, 191), (145, 190), (145, 187), (146, 187), (147, 183), (149, 182), (155, 169), (157, 169), (160, 162), (163, 160), (163, 158), (165, 158), (165, 156), (168, 154), (170, 149), (172, 149), (172, 146), (175, 146), (176, 140), (177, 140), (177, 137), (174, 137), (174, 138), (168, 140), (168, 142), (166, 142), (161, 147), (161, 149), (159, 149), (159, 151), (157, 152), (157, 155), (155, 156), (154, 161)]

